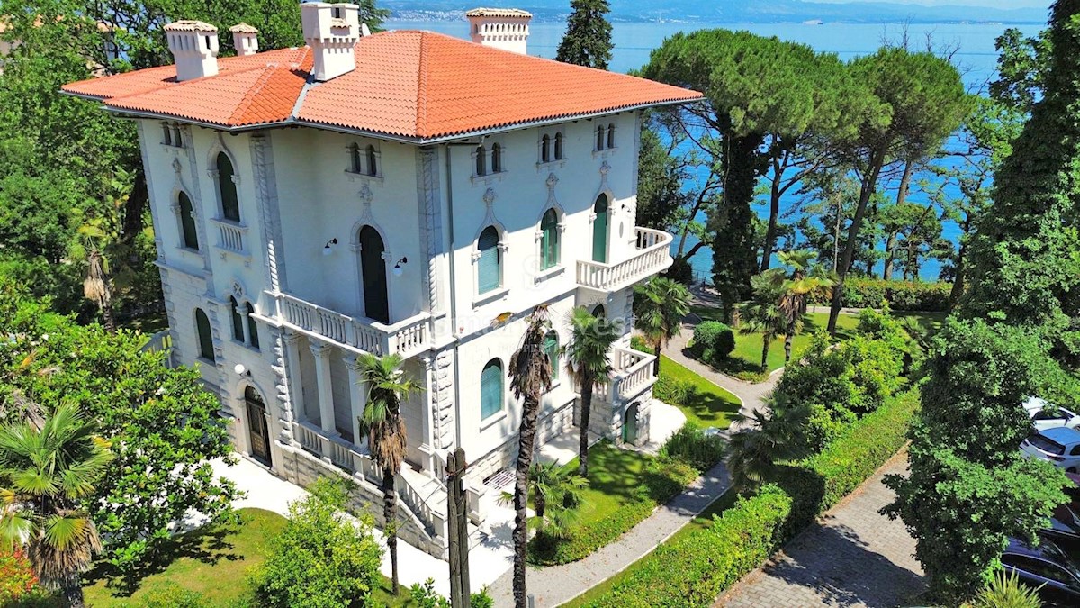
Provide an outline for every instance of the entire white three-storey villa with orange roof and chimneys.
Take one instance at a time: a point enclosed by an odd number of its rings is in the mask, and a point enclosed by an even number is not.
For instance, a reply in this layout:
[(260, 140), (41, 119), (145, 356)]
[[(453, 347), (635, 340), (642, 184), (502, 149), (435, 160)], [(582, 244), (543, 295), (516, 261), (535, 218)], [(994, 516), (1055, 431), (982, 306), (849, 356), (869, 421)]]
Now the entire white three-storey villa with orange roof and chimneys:
[[(369, 34), (355, 4), (301, 4), (307, 45), (258, 52), (231, 28), (165, 27), (175, 65), (68, 84), (137, 124), (173, 362), (220, 396), (237, 450), (301, 485), (380, 472), (357, 417), (356, 357), (401, 355), (423, 391), (404, 406), (399, 534), (446, 552), (446, 454), (470, 461), (470, 519), (512, 479), (521, 407), (507, 367), (526, 317), (623, 319), (589, 429), (648, 439), (652, 357), (630, 348), (634, 285), (672, 236), (635, 226), (648, 108), (693, 91), (529, 56), (530, 15), (468, 13), (472, 41)], [(556, 365), (538, 441), (579, 433)], [(487, 497), (487, 501), (485, 500)]]

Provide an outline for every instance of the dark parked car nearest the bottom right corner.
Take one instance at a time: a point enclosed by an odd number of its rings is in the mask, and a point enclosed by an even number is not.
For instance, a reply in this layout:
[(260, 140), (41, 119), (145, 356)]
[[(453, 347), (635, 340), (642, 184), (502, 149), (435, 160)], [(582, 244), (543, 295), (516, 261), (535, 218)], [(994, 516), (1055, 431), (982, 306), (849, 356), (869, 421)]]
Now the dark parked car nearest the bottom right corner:
[(1039, 546), (1010, 540), (1001, 554), (1005, 572), (1039, 590), (1050, 606), (1080, 606), (1080, 568), (1057, 544), (1043, 539)]

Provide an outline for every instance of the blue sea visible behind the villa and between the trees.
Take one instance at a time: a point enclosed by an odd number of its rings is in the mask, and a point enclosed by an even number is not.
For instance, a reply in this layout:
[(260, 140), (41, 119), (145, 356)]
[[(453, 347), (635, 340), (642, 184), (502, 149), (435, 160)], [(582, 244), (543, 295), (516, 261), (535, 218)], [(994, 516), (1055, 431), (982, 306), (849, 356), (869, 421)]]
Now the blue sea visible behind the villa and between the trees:
[[(977, 9), (972, 9), (977, 11)], [(973, 17), (975, 15), (972, 15)], [(459, 38), (469, 38), (469, 27), (464, 18), (458, 21), (402, 21), (389, 19), (388, 29), (427, 29)], [(816, 51), (836, 53), (841, 60), (876, 52), (882, 44), (897, 44), (907, 41), (908, 48), (927, 49), (928, 45), (940, 53), (949, 53), (959, 69), (966, 87), (971, 92), (985, 92), (987, 83), (996, 76), (997, 51), (995, 40), (1008, 28), (1016, 28), (1026, 36), (1035, 36), (1044, 25), (1009, 23), (625, 23), (612, 24), (615, 50), (609, 69), (626, 72), (638, 69), (649, 61), (649, 53), (663, 41), (679, 31), (726, 28), (748, 30), (761, 36), (775, 36), (807, 44)], [(566, 24), (562, 22), (534, 22), (529, 26), (529, 54), (553, 57)], [(955, 195), (959, 196), (959, 195)], [(926, 202), (926, 196), (913, 188), (908, 200)], [(782, 201), (781, 214), (797, 201), (795, 197)], [(768, 215), (764, 201), (755, 209), (762, 216)], [(946, 222), (944, 236), (956, 242), (960, 235), (957, 225)], [(691, 241), (692, 246), (693, 242)], [(689, 246), (688, 246), (689, 247)], [(707, 277), (712, 268), (712, 250), (703, 247), (690, 261), (694, 274)], [(880, 265), (877, 268), (880, 273)], [(941, 272), (936, 260), (928, 260), (920, 272), (920, 278), (934, 280)]]

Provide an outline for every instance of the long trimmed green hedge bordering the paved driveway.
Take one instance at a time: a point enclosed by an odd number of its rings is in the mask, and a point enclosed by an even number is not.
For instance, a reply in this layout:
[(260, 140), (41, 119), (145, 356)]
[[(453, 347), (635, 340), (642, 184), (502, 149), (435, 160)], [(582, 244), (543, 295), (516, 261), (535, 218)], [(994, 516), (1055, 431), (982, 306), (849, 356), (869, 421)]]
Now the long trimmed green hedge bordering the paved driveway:
[(820, 454), (742, 497), (710, 528), (660, 545), (590, 607), (710, 606), (784, 542), (865, 481), (906, 441), (918, 393), (893, 397)]

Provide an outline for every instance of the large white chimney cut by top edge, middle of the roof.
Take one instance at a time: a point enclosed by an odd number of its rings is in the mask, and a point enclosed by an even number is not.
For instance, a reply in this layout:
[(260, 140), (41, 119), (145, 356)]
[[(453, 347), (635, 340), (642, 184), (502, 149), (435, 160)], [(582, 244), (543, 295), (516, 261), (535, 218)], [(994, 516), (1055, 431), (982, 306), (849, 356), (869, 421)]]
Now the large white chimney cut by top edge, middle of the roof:
[(303, 39), (314, 51), (315, 80), (332, 80), (356, 69), (353, 47), (360, 40), (360, 6), (303, 2), (300, 4)]

